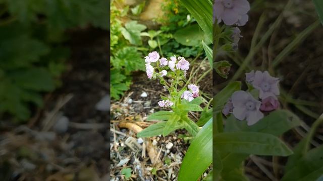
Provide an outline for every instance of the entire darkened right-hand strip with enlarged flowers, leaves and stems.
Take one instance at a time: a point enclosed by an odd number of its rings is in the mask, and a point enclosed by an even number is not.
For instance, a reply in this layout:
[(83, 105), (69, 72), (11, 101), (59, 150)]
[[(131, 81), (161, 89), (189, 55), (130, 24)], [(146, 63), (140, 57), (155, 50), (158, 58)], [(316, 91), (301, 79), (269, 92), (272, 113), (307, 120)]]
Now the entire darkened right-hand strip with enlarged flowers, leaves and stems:
[(321, 81), (322, 54), (309, 43), (322, 28), (313, 2), (213, 2), (213, 179), (322, 176), (322, 100), (311, 85)]

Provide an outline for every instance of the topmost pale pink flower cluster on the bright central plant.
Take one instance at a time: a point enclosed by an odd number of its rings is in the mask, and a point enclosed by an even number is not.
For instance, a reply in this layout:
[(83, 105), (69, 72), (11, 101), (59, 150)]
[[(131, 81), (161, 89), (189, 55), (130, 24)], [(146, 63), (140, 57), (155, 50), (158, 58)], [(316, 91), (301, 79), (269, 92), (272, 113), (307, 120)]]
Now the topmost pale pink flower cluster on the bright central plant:
[[(159, 58), (159, 53), (156, 51), (150, 52), (148, 56), (145, 57), (146, 73), (149, 79), (151, 79), (153, 75), (158, 75), (161, 77), (167, 75), (167, 70), (164, 69), (157, 73), (155, 72), (155, 68), (165, 68), (168, 65), (172, 71), (175, 71), (176, 69), (183, 70), (184, 74), (186, 74), (186, 70), (189, 69), (190, 63), (185, 60), (184, 57), (176, 58), (174, 55), (170, 57), (170, 60), (167, 60), (167, 58), (164, 57)], [(155, 63), (156, 67), (153, 67), (151, 63)]]

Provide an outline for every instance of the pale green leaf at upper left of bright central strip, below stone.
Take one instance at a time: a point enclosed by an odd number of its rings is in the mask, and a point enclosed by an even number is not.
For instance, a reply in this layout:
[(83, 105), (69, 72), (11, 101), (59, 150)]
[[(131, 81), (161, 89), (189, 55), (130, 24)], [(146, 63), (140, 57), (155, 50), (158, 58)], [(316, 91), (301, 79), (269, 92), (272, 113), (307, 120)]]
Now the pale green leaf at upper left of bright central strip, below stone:
[(121, 28), (121, 33), (131, 44), (141, 45), (140, 32), (146, 28), (145, 25), (138, 24), (137, 21), (131, 21), (125, 24), (125, 28)]

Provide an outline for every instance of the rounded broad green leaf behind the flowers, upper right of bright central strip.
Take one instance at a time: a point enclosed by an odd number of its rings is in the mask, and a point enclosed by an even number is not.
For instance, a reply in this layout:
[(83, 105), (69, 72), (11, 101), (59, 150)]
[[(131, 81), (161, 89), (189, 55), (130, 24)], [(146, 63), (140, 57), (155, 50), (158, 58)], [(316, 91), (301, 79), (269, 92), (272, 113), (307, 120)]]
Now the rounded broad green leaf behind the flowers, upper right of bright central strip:
[(205, 41), (206, 44), (211, 43), (197, 24), (177, 30), (173, 37), (178, 43), (185, 46), (196, 46), (201, 44), (201, 41)]

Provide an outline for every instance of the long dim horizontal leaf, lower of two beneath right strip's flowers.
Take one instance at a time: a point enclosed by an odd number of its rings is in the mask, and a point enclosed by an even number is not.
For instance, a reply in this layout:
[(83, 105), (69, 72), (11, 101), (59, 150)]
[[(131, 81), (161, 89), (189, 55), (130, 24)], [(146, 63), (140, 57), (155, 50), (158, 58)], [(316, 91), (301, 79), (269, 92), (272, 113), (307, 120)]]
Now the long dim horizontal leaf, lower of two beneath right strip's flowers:
[(230, 132), (213, 136), (214, 149), (222, 152), (288, 156), (293, 152), (276, 136), (266, 133)]

